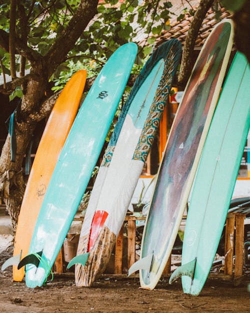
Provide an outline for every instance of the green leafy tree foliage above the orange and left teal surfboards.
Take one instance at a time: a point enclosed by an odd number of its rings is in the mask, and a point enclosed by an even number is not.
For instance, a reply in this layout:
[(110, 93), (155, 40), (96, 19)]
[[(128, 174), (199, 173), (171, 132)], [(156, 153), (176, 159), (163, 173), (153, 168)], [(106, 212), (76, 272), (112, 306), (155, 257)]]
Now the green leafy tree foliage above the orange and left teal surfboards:
[[(9, 32), (10, 1), (0, 3), (0, 30)], [(80, 0), (19, 0), (16, 7), (16, 34), (23, 38), (29, 48), (45, 56), (55, 39), (60, 36), (66, 25), (76, 12)], [(65, 62), (60, 64), (50, 77), (54, 82), (53, 91), (63, 87), (67, 79), (80, 68), (87, 68), (88, 77), (96, 75), (110, 55), (122, 44), (136, 41), (139, 33), (147, 34), (136, 59), (137, 65), (148, 56), (154, 46), (157, 35), (170, 28), (170, 1), (150, 0), (103, 0), (97, 6), (97, 15), (88, 28), (83, 31), (68, 53)], [(187, 10), (184, 8), (184, 10)], [(185, 11), (183, 11), (185, 13)], [(183, 18), (180, 15), (178, 19)], [(149, 36), (150, 34), (150, 36)], [(26, 35), (26, 38), (25, 38)], [(144, 37), (144, 35), (143, 35)], [(66, 43), (65, 43), (66, 44)], [(2, 71), (10, 75), (9, 54), (0, 48)], [(15, 55), (16, 71), (20, 70), (21, 57)], [(26, 69), (30, 63), (26, 62)], [(11, 98), (21, 96), (12, 90)]]

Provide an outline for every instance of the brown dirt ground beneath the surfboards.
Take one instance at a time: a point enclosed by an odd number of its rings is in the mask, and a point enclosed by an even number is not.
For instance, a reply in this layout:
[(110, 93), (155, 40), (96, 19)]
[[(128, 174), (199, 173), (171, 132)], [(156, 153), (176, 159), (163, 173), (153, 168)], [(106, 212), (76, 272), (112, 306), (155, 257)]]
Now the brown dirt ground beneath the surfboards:
[[(0, 264), (12, 254), (12, 247), (0, 253)], [(197, 297), (183, 294), (181, 282), (173, 285), (161, 279), (152, 291), (139, 289), (138, 278), (105, 275), (90, 288), (77, 288), (72, 275), (55, 276), (44, 287), (27, 288), (12, 282), (11, 269), (0, 271), (0, 313), (247, 313), (250, 312), (249, 277), (238, 286), (208, 279)]]

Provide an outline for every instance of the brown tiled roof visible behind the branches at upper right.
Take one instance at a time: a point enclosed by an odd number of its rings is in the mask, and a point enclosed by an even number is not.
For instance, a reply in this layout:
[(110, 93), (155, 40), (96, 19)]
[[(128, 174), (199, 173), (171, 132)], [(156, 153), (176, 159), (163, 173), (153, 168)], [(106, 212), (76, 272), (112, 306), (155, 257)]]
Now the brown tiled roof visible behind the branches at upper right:
[[(231, 14), (227, 11), (225, 11), (224, 8), (221, 9), (221, 15), (220, 20), (223, 20), (225, 18), (230, 18)], [(192, 16), (190, 16), (189, 13), (187, 13), (183, 20), (181, 21), (175, 21), (174, 23), (171, 23), (171, 28), (168, 31), (163, 31), (160, 36), (158, 36), (156, 40), (156, 46), (160, 45), (162, 42), (169, 40), (171, 38), (176, 38), (180, 41), (182, 46), (184, 45), (185, 38), (189, 29), (190, 22), (192, 20)], [(216, 25), (219, 21), (215, 18), (215, 12), (211, 9), (207, 12), (202, 26), (199, 30), (196, 42), (195, 42), (195, 48), (199, 49), (204, 44), (205, 39), (208, 37), (209, 33), (212, 30), (212, 27)]]

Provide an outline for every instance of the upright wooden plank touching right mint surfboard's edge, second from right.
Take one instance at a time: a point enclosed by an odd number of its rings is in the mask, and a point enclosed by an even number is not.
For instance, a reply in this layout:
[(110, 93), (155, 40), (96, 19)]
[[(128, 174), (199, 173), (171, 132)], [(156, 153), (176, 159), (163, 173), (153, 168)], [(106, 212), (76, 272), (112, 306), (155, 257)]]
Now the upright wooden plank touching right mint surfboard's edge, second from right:
[(235, 214), (227, 214), (225, 226), (225, 264), (224, 274), (232, 276), (232, 257), (234, 241)]

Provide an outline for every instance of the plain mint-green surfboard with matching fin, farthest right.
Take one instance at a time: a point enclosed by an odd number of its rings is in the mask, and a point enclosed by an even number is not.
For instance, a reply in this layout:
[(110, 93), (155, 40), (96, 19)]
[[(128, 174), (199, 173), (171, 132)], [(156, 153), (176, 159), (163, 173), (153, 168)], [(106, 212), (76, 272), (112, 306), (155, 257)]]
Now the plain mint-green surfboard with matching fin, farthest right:
[(250, 125), (250, 67), (236, 53), (202, 151), (184, 232), (180, 275), (185, 293), (198, 295), (225, 223)]

